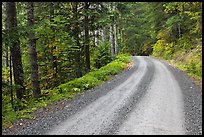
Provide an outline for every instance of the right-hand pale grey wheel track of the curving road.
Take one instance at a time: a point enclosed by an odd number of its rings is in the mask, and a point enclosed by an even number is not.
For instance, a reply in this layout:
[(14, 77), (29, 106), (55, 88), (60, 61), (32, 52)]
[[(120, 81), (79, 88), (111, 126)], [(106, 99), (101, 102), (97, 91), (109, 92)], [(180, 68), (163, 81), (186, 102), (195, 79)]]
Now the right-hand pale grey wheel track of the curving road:
[(147, 93), (118, 130), (123, 135), (184, 135), (184, 102), (181, 88), (169, 69), (155, 65)]

